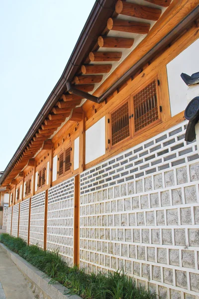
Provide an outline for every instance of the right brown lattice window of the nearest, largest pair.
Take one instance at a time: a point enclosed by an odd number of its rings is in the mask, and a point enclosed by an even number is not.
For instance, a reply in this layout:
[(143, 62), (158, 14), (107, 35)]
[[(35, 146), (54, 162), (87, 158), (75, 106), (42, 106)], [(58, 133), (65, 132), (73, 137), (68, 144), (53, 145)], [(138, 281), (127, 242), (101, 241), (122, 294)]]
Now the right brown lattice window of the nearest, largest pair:
[(156, 80), (133, 96), (133, 108), (135, 132), (159, 119)]

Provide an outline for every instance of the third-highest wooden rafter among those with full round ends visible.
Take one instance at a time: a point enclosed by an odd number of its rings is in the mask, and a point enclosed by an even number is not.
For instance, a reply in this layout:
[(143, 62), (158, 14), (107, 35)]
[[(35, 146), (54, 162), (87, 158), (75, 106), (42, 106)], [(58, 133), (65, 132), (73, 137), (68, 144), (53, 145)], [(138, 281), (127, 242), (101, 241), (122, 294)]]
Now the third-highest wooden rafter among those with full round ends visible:
[(133, 38), (126, 37), (99, 36), (98, 38), (98, 45), (100, 48), (129, 49), (132, 47), (133, 43)]

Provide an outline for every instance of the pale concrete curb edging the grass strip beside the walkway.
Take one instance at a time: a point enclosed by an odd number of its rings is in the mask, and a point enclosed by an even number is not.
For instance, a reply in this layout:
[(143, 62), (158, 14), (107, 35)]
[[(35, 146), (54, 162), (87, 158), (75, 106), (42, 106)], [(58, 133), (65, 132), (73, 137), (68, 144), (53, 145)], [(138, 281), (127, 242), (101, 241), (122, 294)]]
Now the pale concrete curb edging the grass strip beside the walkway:
[[(20, 272), (25, 276), (26, 280), (29, 283), (29, 287), (35, 293), (36, 298), (44, 299), (82, 299), (77, 295), (64, 295), (64, 292), (67, 291), (59, 283), (53, 285), (49, 284), (50, 278), (38, 270), (36, 267), (29, 264), (18, 254), (9, 250), (4, 244), (0, 243), (3, 251), (6, 252), (7, 256), (12, 260)], [(31, 286), (30, 286), (31, 284)]]

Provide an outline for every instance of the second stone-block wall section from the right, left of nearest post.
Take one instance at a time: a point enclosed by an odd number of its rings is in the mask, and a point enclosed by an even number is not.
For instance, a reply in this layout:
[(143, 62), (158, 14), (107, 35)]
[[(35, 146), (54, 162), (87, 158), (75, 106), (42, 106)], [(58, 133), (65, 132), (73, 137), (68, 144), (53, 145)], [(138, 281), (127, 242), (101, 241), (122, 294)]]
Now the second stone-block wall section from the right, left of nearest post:
[(74, 178), (48, 190), (47, 249), (73, 265)]

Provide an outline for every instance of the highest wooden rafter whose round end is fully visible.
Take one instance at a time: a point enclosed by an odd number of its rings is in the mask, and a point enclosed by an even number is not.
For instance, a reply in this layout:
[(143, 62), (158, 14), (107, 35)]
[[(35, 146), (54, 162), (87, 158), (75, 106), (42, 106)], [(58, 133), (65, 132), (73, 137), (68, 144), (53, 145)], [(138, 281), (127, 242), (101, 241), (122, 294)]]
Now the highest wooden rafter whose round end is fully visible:
[(162, 10), (160, 8), (118, 0), (115, 4), (115, 12), (118, 14), (157, 21), (162, 13)]

